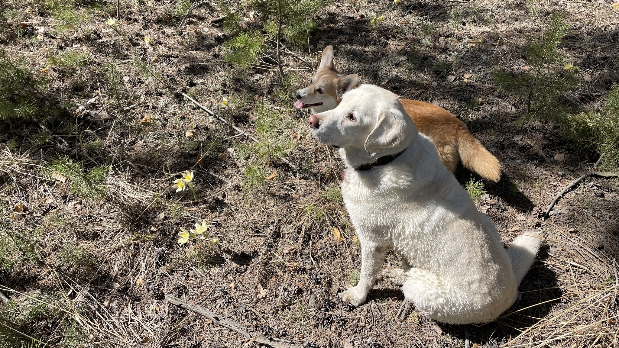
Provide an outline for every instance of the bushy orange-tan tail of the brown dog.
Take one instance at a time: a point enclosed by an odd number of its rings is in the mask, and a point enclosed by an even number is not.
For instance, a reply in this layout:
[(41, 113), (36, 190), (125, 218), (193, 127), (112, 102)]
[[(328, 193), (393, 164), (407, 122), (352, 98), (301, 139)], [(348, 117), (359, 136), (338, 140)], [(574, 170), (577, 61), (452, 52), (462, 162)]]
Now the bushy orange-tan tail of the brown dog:
[(478, 173), (485, 180), (495, 183), (501, 180), (499, 160), (490, 154), (466, 128), (458, 132), (458, 153), (465, 168)]

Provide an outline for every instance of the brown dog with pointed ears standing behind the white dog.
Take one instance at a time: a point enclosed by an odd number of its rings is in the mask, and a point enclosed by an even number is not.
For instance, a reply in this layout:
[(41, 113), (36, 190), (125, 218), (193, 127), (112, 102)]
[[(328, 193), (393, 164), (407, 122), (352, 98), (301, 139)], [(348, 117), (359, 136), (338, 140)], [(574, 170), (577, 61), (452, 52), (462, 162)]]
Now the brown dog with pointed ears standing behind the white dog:
[[(333, 66), (333, 47), (322, 51), (316, 75), (308, 87), (298, 90), (297, 108), (311, 108), (312, 113), (332, 110), (342, 101), (342, 94), (357, 87), (358, 76), (342, 76)], [(481, 175), (488, 181), (501, 179), (501, 164), (483, 145), (470, 134), (469, 129), (456, 116), (444, 108), (417, 100), (402, 99), (404, 110), (413, 119), (420, 133), (430, 137), (445, 167), (454, 172), (457, 164)]]

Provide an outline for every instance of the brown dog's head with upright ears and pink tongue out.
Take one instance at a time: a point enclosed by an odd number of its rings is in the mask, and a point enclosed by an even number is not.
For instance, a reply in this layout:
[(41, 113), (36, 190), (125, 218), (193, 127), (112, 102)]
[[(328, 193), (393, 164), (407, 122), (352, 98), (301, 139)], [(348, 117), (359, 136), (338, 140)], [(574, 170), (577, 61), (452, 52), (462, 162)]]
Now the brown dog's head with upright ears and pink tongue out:
[(297, 108), (311, 108), (312, 113), (332, 110), (342, 101), (342, 94), (357, 86), (357, 74), (342, 76), (333, 66), (333, 46), (322, 51), (316, 75), (308, 87), (297, 91)]

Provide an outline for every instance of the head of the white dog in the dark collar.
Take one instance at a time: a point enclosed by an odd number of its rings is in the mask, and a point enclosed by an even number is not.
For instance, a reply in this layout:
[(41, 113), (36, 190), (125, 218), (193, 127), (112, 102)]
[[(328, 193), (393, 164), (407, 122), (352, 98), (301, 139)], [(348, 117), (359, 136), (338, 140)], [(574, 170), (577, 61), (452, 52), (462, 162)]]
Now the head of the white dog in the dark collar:
[(417, 139), (397, 95), (375, 85), (361, 85), (333, 110), (309, 116), (309, 128), (319, 142), (344, 148), (352, 166), (397, 154)]

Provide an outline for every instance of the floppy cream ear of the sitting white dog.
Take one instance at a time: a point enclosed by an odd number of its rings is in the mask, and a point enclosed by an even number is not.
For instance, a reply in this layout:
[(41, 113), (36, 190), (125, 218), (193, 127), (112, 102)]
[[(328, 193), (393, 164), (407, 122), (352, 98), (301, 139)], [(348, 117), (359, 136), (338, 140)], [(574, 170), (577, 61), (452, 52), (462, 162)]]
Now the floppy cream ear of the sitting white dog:
[(368, 138), (365, 139), (365, 150), (367, 152), (376, 152), (378, 149), (402, 146), (406, 140), (406, 123), (403, 120), (399, 120), (400, 118), (402, 118), (402, 113), (395, 108), (381, 112), (378, 115), (376, 126), (372, 129)]

